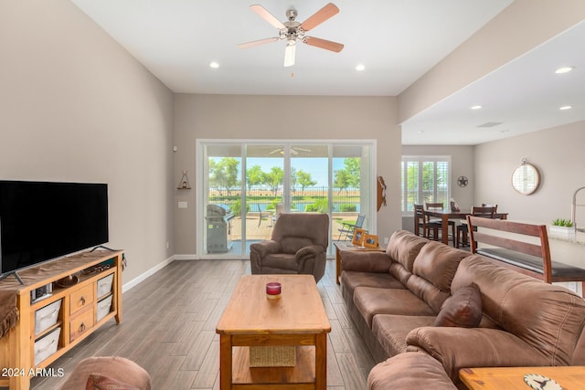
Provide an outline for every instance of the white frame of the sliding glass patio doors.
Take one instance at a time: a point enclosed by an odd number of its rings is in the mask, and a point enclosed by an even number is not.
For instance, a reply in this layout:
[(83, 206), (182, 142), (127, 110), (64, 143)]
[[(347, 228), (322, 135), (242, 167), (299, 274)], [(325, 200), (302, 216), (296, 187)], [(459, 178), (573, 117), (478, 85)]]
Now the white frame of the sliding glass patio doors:
[[(367, 183), (368, 185), (368, 196), (367, 196), (367, 209), (363, 210), (364, 214), (369, 217), (369, 231), (372, 234), (377, 234), (377, 210), (376, 210), (376, 185), (377, 185), (377, 141), (376, 140), (311, 140), (311, 139), (282, 139), (282, 140), (257, 140), (257, 139), (197, 139), (196, 140), (196, 253), (197, 258), (250, 258), (250, 254), (243, 248), (239, 253), (223, 253), (223, 254), (209, 254), (205, 250), (205, 216), (206, 216), (206, 205), (208, 199), (208, 156), (207, 146), (208, 145), (239, 145), (240, 148), (240, 196), (241, 196), (241, 209), (246, 210), (246, 157), (247, 157), (247, 146), (249, 145), (282, 145), (283, 147), (283, 162), (284, 162), (284, 177), (282, 181), (283, 187), (283, 203), (290, 207), (291, 205), (291, 146), (295, 144), (314, 144), (314, 145), (327, 145), (328, 146), (328, 198), (333, 199), (334, 197), (334, 177), (333, 172), (333, 150), (335, 146), (360, 146), (369, 147), (367, 153)], [(362, 157), (363, 158), (363, 157)], [(361, 181), (360, 181), (361, 182)], [(364, 184), (360, 184), (364, 186)], [(288, 190), (285, 191), (285, 189)], [(286, 199), (285, 199), (286, 197)], [(243, 211), (242, 211), (243, 212)], [(335, 242), (335, 232), (333, 231), (333, 202), (329, 202), (328, 216), (330, 218), (329, 223), (329, 248), (328, 258), (332, 258), (335, 255), (333, 243)], [(246, 231), (246, 219), (242, 219), (241, 227), (242, 235), (245, 235)], [(242, 243), (245, 242), (245, 237), (242, 236)]]

